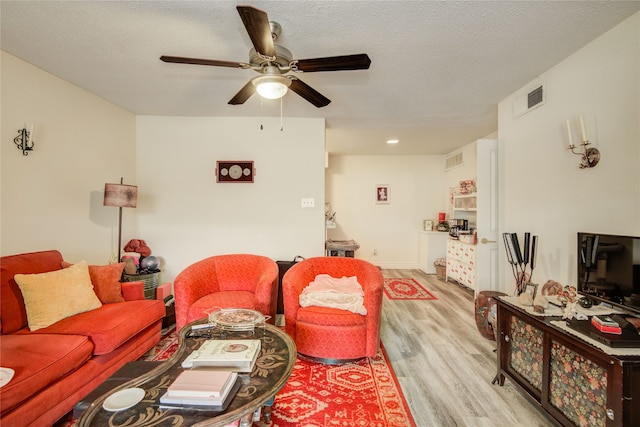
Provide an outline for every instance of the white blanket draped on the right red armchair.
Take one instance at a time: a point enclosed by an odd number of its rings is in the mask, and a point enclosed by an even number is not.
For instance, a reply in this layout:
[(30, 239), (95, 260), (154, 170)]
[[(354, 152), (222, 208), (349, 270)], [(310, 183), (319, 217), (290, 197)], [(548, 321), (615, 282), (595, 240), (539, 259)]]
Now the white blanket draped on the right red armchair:
[(328, 274), (318, 274), (300, 294), (301, 307), (312, 305), (367, 314), (364, 307), (364, 291), (355, 276), (338, 279)]

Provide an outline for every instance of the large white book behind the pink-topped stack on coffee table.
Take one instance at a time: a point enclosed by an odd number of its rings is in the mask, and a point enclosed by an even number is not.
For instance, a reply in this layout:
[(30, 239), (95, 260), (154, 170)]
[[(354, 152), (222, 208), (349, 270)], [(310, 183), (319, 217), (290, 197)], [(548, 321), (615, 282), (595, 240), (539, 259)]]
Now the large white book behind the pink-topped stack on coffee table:
[(182, 367), (217, 367), (234, 372), (251, 372), (260, 347), (260, 340), (206, 340), (182, 362)]

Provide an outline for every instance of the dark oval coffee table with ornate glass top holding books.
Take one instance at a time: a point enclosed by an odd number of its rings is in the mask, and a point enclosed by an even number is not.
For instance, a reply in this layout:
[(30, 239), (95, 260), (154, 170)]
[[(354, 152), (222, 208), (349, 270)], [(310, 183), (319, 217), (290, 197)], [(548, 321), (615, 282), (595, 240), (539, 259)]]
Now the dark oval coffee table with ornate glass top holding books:
[[(206, 323), (201, 319), (186, 325), (179, 333), (176, 352), (157, 368), (122, 384), (92, 402), (78, 420), (78, 426), (211, 426), (222, 427), (241, 420), (250, 426), (253, 413), (263, 407), (284, 386), (296, 361), (296, 346), (280, 328), (271, 324), (255, 326), (253, 331), (228, 331), (220, 328), (192, 329)], [(207, 339), (260, 339), (261, 350), (251, 373), (239, 374), (241, 383), (235, 397), (224, 411), (184, 406), (167, 408), (160, 397), (183, 371), (182, 361)], [(144, 390), (144, 397), (134, 406), (116, 412), (103, 408), (104, 401), (116, 392), (131, 388)], [(139, 390), (138, 390), (139, 391)], [(127, 393), (127, 392), (125, 392)], [(141, 392), (140, 392), (141, 393)]]

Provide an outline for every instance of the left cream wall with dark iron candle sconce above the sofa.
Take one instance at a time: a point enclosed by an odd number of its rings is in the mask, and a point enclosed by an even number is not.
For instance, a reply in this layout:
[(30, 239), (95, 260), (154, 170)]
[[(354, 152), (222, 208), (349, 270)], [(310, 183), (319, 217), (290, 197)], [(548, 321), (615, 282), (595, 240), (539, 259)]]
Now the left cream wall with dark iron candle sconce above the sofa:
[[(104, 184), (135, 184), (135, 116), (0, 54), (2, 255), (58, 249), (71, 262), (107, 263), (118, 210), (102, 206)], [(34, 124), (28, 156), (13, 143), (25, 122)], [(123, 216), (123, 234), (135, 234), (135, 213)]]

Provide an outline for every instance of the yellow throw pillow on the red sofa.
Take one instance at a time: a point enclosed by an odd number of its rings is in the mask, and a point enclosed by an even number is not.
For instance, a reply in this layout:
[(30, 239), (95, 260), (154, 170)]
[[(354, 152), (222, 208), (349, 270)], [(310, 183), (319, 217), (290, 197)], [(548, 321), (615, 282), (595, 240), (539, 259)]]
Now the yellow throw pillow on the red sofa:
[(22, 292), (32, 331), (102, 306), (84, 261), (62, 270), (16, 274), (14, 278)]

